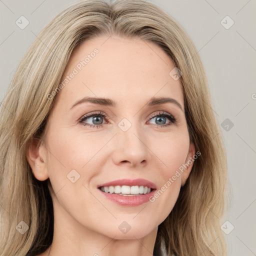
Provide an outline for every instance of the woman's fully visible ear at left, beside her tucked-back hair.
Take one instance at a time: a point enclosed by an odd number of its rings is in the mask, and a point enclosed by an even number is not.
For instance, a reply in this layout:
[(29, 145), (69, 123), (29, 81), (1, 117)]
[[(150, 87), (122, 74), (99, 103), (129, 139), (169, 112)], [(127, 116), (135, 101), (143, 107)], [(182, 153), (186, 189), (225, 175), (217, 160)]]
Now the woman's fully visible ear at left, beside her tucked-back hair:
[(45, 180), (49, 177), (46, 168), (46, 148), (42, 142), (33, 138), (26, 151), (26, 158), (36, 179)]

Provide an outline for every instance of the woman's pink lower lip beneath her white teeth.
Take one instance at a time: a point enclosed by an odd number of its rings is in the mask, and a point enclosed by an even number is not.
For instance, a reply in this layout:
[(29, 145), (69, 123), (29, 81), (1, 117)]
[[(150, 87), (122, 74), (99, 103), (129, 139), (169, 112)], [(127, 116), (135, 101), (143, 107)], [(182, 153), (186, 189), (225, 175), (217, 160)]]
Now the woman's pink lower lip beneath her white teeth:
[(115, 194), (115, 193), (110, 194), (110, 193), (103, 192), (100, 189), (99, 189), (99, 191), (101, 193), (103, 193), (103, 195), (107, 199), (109, 199), (113, 202), (116, 202), (120, 205), (137, 206), (137, 205), (140, 205), (142, 203), (148, 202), (149, 197), (153, 196), (156, 189), (153, 189), (148, 194), (130, 195), (130, 196), (129, 195), (119, 195), (119, 194)]

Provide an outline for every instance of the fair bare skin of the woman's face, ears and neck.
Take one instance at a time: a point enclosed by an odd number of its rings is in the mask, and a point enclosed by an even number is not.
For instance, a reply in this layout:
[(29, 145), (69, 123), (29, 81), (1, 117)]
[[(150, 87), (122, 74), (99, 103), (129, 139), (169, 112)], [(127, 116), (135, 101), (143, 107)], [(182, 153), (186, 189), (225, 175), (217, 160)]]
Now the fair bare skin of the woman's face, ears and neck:
[[(144, 178), (160, 189), (195, 152), (189, 142), (181, 83), (169, 75), (174, 68), (169, 56), (140, 38), (107, 38), (87, 40), (72, 52), (63, 77), (94, 48), (99, 50), (58, 92), (43, 142), (31, 143), (27, 152), (34, 176), (49, 178), (53, 200), (53, 241), (41, 256), (125, 256), (131, 251), (152, 255), (157, 227), (172, 210), (192, 168), (191, 164), (180, 172), (154, 202), (138, 206), (116, 204), (97, 188), (115, 179)], [(84, 96), (110, 98), (116, 106), (86, 102), (69, 110)], [(170, 102), (146, 106), (152, 96), (172, 97), (182, 109)], [(101, 116), (101, 127), (78, 122), (98, 111), (107, 115)], [(161, 127), (170, 120), (150, 118), (159, 111), (173, 115), (176, 123)], [(123, 118), (131, 123), (127, 131), (118, 126)], [(95, 124), (92, 118), (84, 122)], [(72, 169), (80, 174), (74, 183), (67, 178)], [(126, 233), (118, 228), (123, 221), (130, 225)]]

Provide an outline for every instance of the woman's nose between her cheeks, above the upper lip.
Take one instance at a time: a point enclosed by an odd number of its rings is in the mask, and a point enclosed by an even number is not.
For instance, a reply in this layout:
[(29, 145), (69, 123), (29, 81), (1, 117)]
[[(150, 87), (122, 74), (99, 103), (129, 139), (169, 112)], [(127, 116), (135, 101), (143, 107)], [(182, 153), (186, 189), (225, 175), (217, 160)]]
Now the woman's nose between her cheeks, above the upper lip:
[(150, 149), (147, 146), (147, 136), (142, 133), (135, 125), (131, 125), (126, 131), (117, 127), (112, 152), (112, 160), (116, 165), (141, 167), (148, 163)]

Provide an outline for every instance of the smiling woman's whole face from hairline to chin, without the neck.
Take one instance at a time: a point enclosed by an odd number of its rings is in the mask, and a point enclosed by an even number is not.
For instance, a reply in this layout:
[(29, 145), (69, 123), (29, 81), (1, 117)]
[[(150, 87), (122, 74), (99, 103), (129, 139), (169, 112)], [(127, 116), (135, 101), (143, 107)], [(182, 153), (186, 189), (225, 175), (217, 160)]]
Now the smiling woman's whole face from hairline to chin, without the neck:
[(177, 170), (194, 153), (173, 68), (159, 46), (139, 38), (100, 36), (72, 52), (40, 163), (30, 160), (37, 179), (49, 178), (54, 219), (131, 239), (167, 217), (192, 164)]

